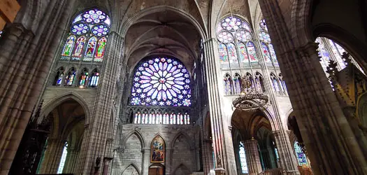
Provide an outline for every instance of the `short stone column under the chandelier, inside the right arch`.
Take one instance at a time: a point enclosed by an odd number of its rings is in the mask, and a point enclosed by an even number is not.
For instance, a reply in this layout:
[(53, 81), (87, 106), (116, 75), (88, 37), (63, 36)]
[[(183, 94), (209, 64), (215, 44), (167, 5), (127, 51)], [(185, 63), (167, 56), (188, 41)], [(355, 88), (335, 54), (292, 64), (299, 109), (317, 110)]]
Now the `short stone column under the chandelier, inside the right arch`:
[(257, 140), (250, 139), (243, 142), (245, 146), (248, 174), (256, 175), (262, 172)]

